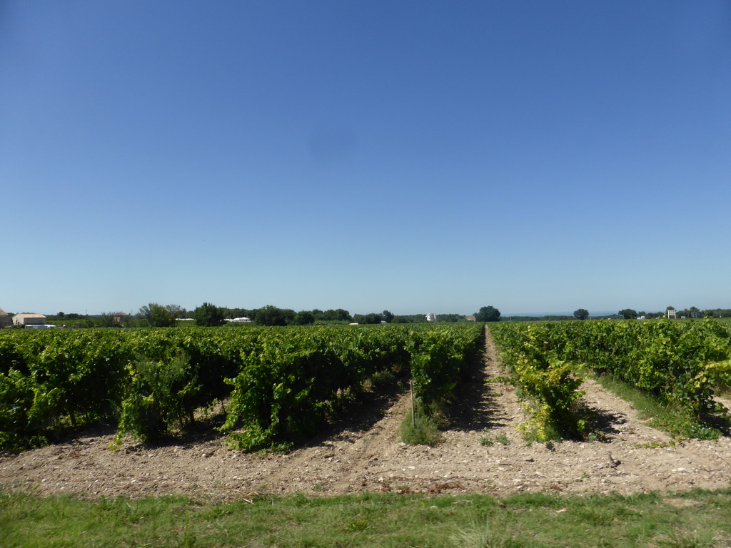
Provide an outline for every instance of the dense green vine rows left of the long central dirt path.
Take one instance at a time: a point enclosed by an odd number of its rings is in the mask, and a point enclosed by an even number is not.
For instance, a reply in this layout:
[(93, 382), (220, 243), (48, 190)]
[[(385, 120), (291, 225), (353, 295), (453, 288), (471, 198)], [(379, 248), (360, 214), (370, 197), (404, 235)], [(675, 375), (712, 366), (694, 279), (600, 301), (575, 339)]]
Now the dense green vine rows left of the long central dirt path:
[(373, 384), (410, 376), (428, 412), (474, 362), (479, 325), (9, 331), (0, 336), (0, 449), (26, 449), (80, 424), (143, 443), (229, 400), (236, 449), (286, 449)]

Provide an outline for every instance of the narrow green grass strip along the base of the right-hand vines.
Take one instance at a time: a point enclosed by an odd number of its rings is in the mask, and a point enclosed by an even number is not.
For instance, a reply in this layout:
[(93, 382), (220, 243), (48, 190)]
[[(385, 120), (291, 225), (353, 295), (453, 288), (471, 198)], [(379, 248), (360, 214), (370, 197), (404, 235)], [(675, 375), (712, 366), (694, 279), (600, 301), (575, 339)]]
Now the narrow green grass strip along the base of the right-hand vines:
[(632, 403), (632, 406), (637, 409), (640, 419), (650, 419), (648, 425), (673, 435), (675, 438), (716, 439), (722, 434), (721, 430), (711, 425), (697, 422), (696, 419), (683, 412), (683, 409), (664, 405), (656, 397), (652, 397), (614, 376), (602, 375), (597, 377), (596, 381), (617, 397)]

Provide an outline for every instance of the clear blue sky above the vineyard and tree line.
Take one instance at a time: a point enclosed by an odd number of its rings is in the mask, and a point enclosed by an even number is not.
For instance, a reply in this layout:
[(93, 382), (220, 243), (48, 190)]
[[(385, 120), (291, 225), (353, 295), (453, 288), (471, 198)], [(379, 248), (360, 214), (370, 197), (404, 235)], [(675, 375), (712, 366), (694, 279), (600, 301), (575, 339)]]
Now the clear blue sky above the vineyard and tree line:
[(0, 308), (731, 308), (731, 4), (0, 3)]

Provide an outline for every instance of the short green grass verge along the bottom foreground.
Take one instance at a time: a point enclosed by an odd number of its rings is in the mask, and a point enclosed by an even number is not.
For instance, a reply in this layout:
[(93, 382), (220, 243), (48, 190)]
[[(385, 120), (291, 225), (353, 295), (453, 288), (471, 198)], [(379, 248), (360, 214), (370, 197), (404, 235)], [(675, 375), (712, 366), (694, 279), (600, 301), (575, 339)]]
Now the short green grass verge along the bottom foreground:
[(731, 490), (82, 501), (0, 494), (4, 547), (726, 547)]

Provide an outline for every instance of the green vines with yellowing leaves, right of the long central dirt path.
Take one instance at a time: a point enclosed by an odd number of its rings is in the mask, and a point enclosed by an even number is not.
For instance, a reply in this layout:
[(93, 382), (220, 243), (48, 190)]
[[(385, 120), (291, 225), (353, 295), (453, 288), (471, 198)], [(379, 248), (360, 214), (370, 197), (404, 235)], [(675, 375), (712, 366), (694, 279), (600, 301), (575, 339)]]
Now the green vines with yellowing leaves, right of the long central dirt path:
[[(728, 432), (727, 409), (714, 399), (731, 387), (728, 324), (708, 319), (498, 324), (493, 336), (510, 369), (507, 381), (526, 397), (538, 441), (588, 434), (577, 406), (586, 375), (609, 375), (636, 387), (686, 420), (683, 434)], [(721, 425), (721, 430), (716, 425)]]

